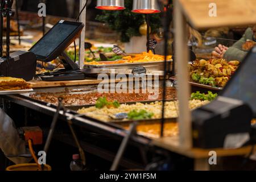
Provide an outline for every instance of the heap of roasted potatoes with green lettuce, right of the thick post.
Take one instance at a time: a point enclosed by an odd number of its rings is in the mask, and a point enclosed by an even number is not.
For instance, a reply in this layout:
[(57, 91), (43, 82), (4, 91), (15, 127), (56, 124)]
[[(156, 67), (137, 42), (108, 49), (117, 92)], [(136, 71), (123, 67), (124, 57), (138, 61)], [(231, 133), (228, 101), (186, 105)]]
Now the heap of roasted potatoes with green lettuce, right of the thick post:
[(191, 81), (199, 84), (223, 87), (236, 71), (239, 61), (225, 59), (196, 60), (190, 65)]

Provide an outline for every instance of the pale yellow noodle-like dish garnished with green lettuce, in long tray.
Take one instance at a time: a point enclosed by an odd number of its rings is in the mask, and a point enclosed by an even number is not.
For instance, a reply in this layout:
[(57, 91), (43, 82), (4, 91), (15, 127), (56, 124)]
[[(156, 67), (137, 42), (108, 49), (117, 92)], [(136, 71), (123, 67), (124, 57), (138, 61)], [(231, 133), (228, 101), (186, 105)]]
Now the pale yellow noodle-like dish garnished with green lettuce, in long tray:
[[(189, 109), (195, 109), (202, 105), (208, 104), (209, 101), (191, 100), (189, 101)], [(168, 101), (165, 102), (164, 118), (176, 118), (178, 102)], [(112, 121), (115, 115), (118, 113), (127, 113), (128, 119), (160, 119), (162, 117), (162, 102), (151, 102), (150, 104), (142, 104), (137, 102), (136, 104), (119, 104), (118, 107), (102, 107), (97, 108), (91, 106), (88, 108), (83, 107), (77, 111), (79, 114), (85, 114), (89, 117), (99, 119), (104, 122)]]

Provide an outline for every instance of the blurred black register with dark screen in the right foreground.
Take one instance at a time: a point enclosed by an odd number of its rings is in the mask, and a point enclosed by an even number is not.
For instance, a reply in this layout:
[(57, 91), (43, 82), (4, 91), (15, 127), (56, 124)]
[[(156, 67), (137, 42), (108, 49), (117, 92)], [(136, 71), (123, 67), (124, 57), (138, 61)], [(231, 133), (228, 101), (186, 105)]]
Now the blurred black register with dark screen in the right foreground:
[(216, 100), (192, 111), (193, 146), (239, 148), (254, 140), (256, 47), (247, 53)]

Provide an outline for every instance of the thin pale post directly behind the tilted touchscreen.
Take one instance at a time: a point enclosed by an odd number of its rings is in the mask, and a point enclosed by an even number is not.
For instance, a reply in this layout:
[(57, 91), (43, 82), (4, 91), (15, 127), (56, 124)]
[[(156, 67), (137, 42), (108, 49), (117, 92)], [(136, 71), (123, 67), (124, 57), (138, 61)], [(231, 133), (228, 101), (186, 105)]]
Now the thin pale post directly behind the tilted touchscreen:
[[(79, 12), (82, 10), (82, 7), (84, 7), (86, 1), (88, 0), (80, 0), (80, 10)], [(84, 39), (85, 39), (85, 26), (86, 26), (86, 8), (84, 9), (84, 11), (82, 11), (79, 21), (84, 23), (84, 28), (82, 29), (81, 32), (81, 36), (79, 39), (79, 67), (80, 69), (84, 68), (84, 56), (85, 56), (85, 52), (84, 52)]]

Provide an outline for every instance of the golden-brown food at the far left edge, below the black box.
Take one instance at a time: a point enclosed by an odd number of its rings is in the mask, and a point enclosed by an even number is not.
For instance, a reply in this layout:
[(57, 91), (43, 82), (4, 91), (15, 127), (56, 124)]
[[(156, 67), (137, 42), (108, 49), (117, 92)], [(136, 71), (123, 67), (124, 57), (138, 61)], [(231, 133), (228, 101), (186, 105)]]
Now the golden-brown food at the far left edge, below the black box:
[(30, 89), (31, 85), (22, 78), (0, 77), (0, 90)]

